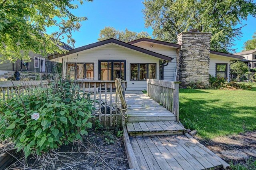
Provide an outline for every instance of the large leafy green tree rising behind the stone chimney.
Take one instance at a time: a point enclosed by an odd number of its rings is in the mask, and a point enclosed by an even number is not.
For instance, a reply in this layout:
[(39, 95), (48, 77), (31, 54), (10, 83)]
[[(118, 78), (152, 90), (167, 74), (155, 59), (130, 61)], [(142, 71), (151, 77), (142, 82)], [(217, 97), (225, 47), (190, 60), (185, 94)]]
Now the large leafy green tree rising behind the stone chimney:
[(180, 32), (191, 28), (211, 32), (211, 49), (232, 51), (234, 39), (242, 35), (249, 14), (256, 16), (253, 0), (145, 0), (145, 26), (158, 40), (177, 42)]

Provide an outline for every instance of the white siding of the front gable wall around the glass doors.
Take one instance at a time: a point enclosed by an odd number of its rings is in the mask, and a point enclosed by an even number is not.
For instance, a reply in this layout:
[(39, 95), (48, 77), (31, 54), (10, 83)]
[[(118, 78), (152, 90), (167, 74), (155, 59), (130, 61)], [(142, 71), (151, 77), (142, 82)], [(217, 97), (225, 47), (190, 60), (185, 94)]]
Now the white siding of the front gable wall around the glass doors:
[(64, 78), (66, 76), (66, 63), (94, 63), (94, 79), (98, 80), (98, 61), (99, 60), (126, 60), (126, 80), (127, 90), (147, 89), (146, 81), (130, 81), (130, 63), (156, 63), (156, 77), (159, 79), (159, 58), (140, 53), (113, 43), (102, 45), (97, 49), (88, 49), (78, 53), (66, 55), (63, 58)]

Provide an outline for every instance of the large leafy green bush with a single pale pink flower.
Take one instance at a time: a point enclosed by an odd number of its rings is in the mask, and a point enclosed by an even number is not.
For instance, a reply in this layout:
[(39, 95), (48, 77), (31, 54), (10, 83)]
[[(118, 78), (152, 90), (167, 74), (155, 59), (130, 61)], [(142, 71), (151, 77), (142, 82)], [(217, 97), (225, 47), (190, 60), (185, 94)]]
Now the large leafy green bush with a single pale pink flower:
[(39, 88), (0, 104), (0, 140), (12, 140), (26, 157), (81, 140), (92, 127), (88, 122), (94, 109), (92, 101), (80, 97), (69, 82)]

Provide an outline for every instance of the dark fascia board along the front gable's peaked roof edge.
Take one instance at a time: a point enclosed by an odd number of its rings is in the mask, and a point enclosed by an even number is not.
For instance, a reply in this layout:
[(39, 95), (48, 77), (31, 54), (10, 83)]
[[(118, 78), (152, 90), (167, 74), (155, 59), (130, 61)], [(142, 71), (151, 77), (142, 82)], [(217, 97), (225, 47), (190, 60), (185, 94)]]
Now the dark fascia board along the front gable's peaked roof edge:
[(65, 55), (77, 53), (77, 52), (80, 52), (80, 51), (84, 51), (86, 49), (91, 49), (91, 48), (98, 47), (98, 46), (101, 46), (101, 45), (105, 45), (105, 44), (108, 44), (108, 43), (115, 43), (115, 44), (121, 45), (123, 47), (127, 47), (127, 48), (130, 48), (130, 49), (133, 49), (133, 50), (136, 50), (136, 51), (148, 54), (148, 55), (152, 55), (154, 57), (158, 57), (158, 58), (163, 59), (163, 60), (167, 60), (167, 61), (172, 61), (172, 59), (173, 59), (173, 58), (168, 57), (166, 55), (162, 55), (160, 53), (155, 53), (153, 51), (150, 51), (150, 50), (147, 50), (147, 49), (144, 49), (144, 48), (141, 48), (141, 47), (137, 47), (135, 45), (125, 43), (125, 42), (116, 40), (114, 38), (110, 38), (108, 40), (103, 40), (103, 41), (100, 41), (100, 42), (84, 45), (82, 47), (74, 48), (74, 49), (71, 49), (70, 51), (68, 51), (67, 53), (64, 53), (64, 54), (57, 53), (57, 54), (54, 54), (54, 55), (50, 55), (49, 59), (54, 59), (54, 58), (62, 57), (62, 56), (65, 56)]

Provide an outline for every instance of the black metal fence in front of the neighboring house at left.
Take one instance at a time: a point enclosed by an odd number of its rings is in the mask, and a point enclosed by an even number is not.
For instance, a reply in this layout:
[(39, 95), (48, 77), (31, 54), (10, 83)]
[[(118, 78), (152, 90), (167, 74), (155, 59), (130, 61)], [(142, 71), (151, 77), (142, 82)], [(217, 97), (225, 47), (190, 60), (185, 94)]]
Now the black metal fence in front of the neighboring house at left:
[(20, 72), (39, 72), (39, 73), (52, 73), (55, 63), (45, 59), (30, 59), (30, 62), (17, 59), (13, 65), (13, 71)]

